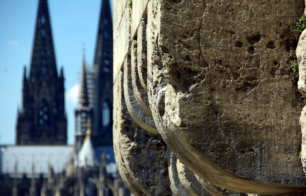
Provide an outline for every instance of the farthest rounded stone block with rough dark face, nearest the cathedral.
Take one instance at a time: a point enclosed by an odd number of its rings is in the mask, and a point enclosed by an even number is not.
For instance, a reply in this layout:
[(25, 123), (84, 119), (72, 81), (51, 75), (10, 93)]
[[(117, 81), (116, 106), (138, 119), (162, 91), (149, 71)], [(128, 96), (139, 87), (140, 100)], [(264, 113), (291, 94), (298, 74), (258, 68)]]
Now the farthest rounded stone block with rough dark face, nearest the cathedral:
[[(129, 58), (125, 59), (128, 63)], [(125, 106), (123, 73), (114, 83), (113, 140), (118, 171), (134, 195), (171, 195), (167, 146), (161, 136), (141, 129)]]

